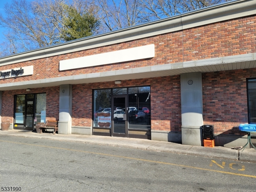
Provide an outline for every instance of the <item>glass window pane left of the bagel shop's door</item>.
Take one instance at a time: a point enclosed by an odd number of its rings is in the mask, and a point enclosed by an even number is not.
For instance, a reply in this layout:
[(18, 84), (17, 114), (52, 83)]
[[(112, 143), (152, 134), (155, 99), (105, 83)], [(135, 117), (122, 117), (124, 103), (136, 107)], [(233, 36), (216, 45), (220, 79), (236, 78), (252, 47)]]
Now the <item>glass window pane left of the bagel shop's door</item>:
[(14, 123), (24, 124), (25, 119), (25, 96), (26, 95), (17, 95), (16, 96), (16, 108), (15, 108), (15, 119)]

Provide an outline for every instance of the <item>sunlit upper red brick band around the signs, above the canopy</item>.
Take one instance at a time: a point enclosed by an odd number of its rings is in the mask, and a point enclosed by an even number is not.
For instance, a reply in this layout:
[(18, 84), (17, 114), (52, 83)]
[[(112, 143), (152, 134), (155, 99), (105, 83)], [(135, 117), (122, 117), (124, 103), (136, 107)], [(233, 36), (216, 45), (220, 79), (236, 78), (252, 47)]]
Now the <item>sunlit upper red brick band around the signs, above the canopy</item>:
[[(33, 65), (34, 74), (32, 76), (8, 78), (4, 81), (1, 80), (0, 83), (88, 74), (252, 53), (256, 52), (255, 34), (256, 16), (228, 20), (120, 44), (2, 66), (0, 67), (0, 71)], [(155, 44), (155, 57), (152, 59), (59, 71), (60, 60), (122, 50), (147, 44)]]

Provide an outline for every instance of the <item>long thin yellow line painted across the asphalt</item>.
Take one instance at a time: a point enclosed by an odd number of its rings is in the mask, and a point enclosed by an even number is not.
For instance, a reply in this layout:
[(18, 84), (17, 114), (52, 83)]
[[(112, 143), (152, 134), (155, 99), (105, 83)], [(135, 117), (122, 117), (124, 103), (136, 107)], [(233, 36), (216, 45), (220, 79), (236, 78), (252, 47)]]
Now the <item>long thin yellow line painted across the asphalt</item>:
[(96, 153), (96, 152), (82, 151), (82, 150), (68, 149), (68, 148), (60, 148), (60, 147), (51, 147), (51, 146), (44, 146), (44, 145), (35, 145), (35, 144), (28, 144), (28, 143), (18, 143), (18, 142), (12, 142), (12, 141), (4, 141), (4, 140), (0, 140), (0, 141), (8, 142), (8, 143), (22, 144), (22, 145), (31, 145), (31, 146), (37, 146), (37, 147), (47, 147), (47, 148), (54, 148), (54, 149), (62, 149), (62, 150), (69, 150), (69, 151), (90, 153), (90, 154), (96, 154), (96, 155), (102, 155), (102, 156), (119, 157), (119, 158), (132, 159), (132, 160), (138, 160), (138, 161), (144, 161), (144, 162), (150, 162), (150, 163), (167, 164), (167, 165), (172, 165), (172, 166), (179, 166), (179, 167), (186, 167), (186, 168), (192, 168), (192, 169), (199, 169), (199, 170), (204, 170), (204, 171), (211, 171), (211, 172), (218, 172), (218, 173), (226, 173), (226, 174), (230, 174), (230, 175), (238, 175), (238, 176), (243, 176), (243, 177), (252, 177), (252, 178), (256, 178), (256, 176), (254, 176), (254, 175), (245, 175), (245, 174), (239, 174), (239, 173), (218, 171), (218, 170), (205, 169), (205, 168), (193, 167), (193, 166), (188, 166), (188, 165), (180, 165), (180, 164), (166, 163), (166, 162), (161, 162), (161, 161), (152, 161), (152, 160), (147, 160), (147, 159), (139, 159), (139, 158), (133, 158), (133, 157), (126, 157), (126, 156), (110, 155), (110, 154), (104, 154), (104, 153)]

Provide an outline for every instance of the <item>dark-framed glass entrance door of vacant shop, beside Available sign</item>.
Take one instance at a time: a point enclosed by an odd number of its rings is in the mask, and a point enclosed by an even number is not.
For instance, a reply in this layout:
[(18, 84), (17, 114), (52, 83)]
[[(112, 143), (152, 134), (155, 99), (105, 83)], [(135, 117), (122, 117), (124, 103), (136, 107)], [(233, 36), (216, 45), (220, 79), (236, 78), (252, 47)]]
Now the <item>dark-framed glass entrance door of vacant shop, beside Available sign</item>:
[(127, 123), (127, 99), (126, 96), (112, 97), (112, 136), (128, 137)]

